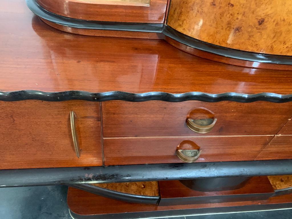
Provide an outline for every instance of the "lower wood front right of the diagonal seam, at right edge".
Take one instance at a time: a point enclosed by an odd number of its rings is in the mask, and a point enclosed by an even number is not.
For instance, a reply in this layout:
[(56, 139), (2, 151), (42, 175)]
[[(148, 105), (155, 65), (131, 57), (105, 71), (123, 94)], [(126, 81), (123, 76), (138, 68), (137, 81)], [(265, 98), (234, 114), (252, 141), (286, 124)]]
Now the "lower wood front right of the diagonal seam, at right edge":
[(256, 160), (292, 159), (292, 135), (276, 135)]

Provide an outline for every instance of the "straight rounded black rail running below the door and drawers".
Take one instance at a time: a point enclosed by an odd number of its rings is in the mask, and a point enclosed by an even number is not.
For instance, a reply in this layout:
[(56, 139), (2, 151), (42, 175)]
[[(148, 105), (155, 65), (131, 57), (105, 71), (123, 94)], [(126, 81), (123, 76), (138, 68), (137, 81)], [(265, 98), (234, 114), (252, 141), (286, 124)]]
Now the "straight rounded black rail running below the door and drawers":
[(260, 175), (292, 175), (292, 160), (0, 170), (0, 188)]

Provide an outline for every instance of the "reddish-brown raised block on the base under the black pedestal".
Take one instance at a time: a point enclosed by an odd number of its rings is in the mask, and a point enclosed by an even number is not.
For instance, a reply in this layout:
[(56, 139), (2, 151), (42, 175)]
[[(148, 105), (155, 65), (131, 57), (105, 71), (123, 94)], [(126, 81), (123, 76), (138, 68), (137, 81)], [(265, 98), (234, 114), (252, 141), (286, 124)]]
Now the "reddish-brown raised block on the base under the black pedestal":
[(181, 204), (203, 204), (228, 201), (268, 199), (274, 194), (274, 189), (266, 176), (253, 177), (247, 183), (235, 190), (201, 192), (192, 190), (179, 180), (159, 181), (161, 200), (159, 206)]

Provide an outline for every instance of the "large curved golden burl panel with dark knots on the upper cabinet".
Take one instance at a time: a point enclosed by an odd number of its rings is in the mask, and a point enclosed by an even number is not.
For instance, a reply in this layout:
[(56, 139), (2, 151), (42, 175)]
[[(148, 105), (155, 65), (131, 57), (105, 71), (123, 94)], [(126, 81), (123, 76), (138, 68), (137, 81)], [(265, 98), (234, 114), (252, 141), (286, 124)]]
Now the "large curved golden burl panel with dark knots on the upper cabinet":
[(233, 49), (292, 55), (291, 1), (172, 0), (168, 25)]

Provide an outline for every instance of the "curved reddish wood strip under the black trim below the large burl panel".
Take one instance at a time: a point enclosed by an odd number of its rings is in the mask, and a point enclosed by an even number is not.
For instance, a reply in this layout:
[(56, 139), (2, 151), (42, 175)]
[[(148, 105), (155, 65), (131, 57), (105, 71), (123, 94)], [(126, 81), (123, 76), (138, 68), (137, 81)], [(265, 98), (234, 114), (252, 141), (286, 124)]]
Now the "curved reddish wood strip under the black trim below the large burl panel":
[[(59, 29), (59, 28), (57, 28)], [(66, 30), (65, 30), (66, 31)], [(70, 32), (70, 31), (67, 31)], [(89, 34), (90, 35), (90, 34)], [(179, 48), (187, 53), (190, 53), (192, 55), (197, 55), (202, 58), (214, 60), (217, 62), (223, 62), (231, 65), (239, 65), (244, 67), (250, 67), (250, 68), (264, 68), (264, 69), (280, 69), (280, 70), (292, 70), (291, 65), (282, 65), (282, 64), (271, 64), (271, 63), (265, 63), (265, 62), (255, 62), (255, 61), (247, 61), (247, 60), (241, 60), (236, 58), (229, 58), (223, 55), (217, 55), (215, 53), (208, 53), (199, 49), (192, 48), (190, 46), (187, 46), (185, 44), (182, 44), (174, 39), (171, 39), (168, 36), (165, 36), (165, 40), (171, 44), (172, 46), (175, 46), (176, 48)]]

